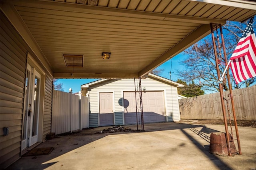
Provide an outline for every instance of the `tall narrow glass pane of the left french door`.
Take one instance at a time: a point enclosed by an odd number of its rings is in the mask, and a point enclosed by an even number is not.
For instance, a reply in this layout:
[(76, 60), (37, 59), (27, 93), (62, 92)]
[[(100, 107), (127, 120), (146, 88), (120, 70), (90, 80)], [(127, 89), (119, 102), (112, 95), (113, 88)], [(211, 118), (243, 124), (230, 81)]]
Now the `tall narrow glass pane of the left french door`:
[(26, 96), (26, 101), (24, 104), (24, 107), (26, 107), (25, 109), (25, 115), (24, 115), (24, 127), (23, 127), (23, 134), (22, 134), (22, 140), (26, 139), (26, 132), (27, 132), (27, 116), (28, 116), (28, 94), (29, 94), (29, 78), (30, 78), (30, 71), (27, 71), (27, 77), (26, 77), (26, 87), (25, 87), (25, 96)]

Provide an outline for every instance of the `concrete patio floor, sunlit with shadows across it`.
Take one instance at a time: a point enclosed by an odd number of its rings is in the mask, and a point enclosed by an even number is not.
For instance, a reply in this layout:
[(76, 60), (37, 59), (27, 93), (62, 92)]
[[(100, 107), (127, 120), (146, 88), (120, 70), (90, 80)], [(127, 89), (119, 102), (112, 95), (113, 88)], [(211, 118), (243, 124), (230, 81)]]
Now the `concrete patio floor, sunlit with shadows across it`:
[(146, 132), (94, 134), (107, 128), (99, 127), (56, 137), (37, 146), (54, 147), (50, 154), (24, 156), (7, 169), (256, 170), (256, 128), (238, 127), (242, 155), (223, 157), (210, 154), (209, 144), (210, 133), (225, 132), (224, 126), (166, 122), (144, 127)]

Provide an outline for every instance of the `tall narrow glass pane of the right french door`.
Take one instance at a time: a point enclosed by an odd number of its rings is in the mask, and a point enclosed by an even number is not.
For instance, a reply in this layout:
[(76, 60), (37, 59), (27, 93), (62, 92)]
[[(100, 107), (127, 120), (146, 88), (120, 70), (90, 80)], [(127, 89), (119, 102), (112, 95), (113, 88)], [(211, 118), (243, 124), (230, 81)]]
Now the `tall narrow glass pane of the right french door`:
[(36, 136), (38, 132), (38, 104), (39, 104), (39, 78), (36, 76), (35, 84), (34, 84), (34, 117), (33, 117), (33, 128), (32, 128), (32, 136)]

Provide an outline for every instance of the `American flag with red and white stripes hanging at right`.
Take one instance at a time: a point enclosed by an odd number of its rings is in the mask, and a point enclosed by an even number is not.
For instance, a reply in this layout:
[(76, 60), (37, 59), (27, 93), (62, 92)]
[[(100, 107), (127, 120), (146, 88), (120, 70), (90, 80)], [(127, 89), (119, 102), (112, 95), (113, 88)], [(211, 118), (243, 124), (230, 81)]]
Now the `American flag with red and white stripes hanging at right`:
[(256, 37), (250, 19), (231, 58), (230, 67), (236, 84), (256, 76)]

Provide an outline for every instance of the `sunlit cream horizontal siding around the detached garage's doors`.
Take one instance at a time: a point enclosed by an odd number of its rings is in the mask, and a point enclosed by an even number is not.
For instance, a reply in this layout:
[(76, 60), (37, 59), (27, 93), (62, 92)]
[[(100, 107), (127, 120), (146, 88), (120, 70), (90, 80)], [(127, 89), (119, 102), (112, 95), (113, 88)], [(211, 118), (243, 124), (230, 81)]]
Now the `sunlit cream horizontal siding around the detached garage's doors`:
[[(164, 91), (168, 121), (180, 120), (176, 87), (160, 82), (159, 80), (153, 80), (152, 78), (142, 79), (141, 84), (142, 89), (146, 88), (146, 91)], [(112, 79), (90, 86), (88, 89), (90, 95), (90, 113), (97, 114), (99, 112), (98, 92), (114, 92), (114, 112), (123, 112), (124, 110), (120, 106), (119, 100), (122, 100), (124, 91), (134, 91), (134, 79)]]

